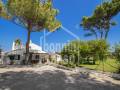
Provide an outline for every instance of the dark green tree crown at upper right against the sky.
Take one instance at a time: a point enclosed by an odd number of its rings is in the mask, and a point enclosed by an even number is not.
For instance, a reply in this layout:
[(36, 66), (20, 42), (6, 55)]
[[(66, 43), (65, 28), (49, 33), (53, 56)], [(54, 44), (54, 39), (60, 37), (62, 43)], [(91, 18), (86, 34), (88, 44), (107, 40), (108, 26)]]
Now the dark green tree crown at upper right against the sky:
[(81, 26), (88, 33), (85, 36), (95, 35), (96, 38), (107, 39), (111, 26), (116, 23), (112, 18), (120, 12), (120, 0), (112, 0), (98, 5), (90, 17), (84, 16)]

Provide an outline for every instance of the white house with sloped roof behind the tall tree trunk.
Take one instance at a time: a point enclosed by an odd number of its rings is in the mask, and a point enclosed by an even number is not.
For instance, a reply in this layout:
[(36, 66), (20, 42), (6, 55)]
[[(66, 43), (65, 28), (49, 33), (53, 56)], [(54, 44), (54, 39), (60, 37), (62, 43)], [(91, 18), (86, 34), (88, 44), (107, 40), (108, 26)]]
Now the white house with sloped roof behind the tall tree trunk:
[[(25, 53), (25, 46), (22, 45), (20, 40), (15, 40), (12, 45), (12, 51), (5, 53), (3, 64), (24, 64)], [(54, 58), (57, 62), (62, 60), (59, 54), (49, 54), (43, 51), (42, 47), (34, 44), (32, 41), (30, 41), (29, 53), (29, 60), (33, 64), (48, 62), (50, 57)]]

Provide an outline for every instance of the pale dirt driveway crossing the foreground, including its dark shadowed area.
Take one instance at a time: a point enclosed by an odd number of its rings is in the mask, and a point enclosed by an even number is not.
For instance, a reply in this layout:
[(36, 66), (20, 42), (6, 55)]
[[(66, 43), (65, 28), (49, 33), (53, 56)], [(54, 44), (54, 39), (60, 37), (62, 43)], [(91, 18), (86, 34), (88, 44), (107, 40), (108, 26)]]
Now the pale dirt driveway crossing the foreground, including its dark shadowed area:
[(53, 66), (0, 68), (0, 90), (120, 90), (109, 75)]

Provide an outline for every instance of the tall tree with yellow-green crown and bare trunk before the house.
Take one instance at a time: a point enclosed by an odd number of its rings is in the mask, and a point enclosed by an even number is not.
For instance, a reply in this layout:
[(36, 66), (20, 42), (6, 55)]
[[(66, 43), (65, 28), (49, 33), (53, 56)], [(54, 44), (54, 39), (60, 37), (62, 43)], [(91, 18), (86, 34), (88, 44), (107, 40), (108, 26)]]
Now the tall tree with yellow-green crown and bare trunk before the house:
[(56, 20), (58, 10), (54, 9), (51, 0), (8, 0), (7, 10), (12, 21), (26, 28), (26, 62), (29, 60), (29, 43), (31, 32), (47, 29), (55, 31), (61, 24)]

